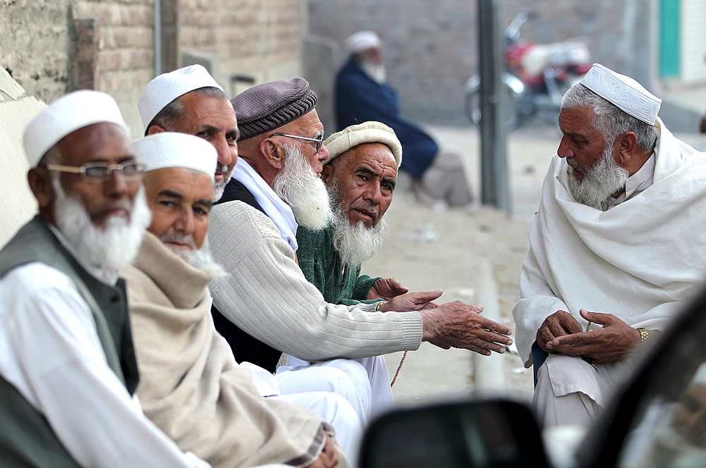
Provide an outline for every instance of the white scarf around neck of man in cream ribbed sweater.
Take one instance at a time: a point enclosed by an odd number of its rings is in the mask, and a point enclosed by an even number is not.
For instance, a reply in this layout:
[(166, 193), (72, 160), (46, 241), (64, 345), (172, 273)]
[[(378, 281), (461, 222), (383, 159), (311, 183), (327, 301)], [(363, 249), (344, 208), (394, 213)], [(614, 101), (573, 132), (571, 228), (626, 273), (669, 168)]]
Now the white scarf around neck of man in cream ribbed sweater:
[(282, 239), (287, 241), (294, 252), (297, 252), (297, 221), (289, 205), (275, 193), (275, 190), (272, 190), (253, 166), (242, 158), (238, 158), (232, 178), (245, 185), (246, 189), (253, 194), (265, 214), (280, 230)]

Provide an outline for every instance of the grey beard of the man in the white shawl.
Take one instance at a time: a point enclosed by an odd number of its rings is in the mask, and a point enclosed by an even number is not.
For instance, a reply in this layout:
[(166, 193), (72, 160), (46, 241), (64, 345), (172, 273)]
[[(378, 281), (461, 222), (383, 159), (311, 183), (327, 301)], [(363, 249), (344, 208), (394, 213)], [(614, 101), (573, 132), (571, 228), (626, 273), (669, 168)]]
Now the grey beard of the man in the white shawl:
[[(581, 170), (586, 171), (585, 168)], [(625, 187), (628, 180), (628, 171), (616, 164), (613, 147), (609, 144), (603, 149), (601, 161), (584, 172), (583, 180), (574, 177), (571, 166), (566, 171), (571, 196), (580, 204), (596, 209), (600, 209), (608, 197)]]

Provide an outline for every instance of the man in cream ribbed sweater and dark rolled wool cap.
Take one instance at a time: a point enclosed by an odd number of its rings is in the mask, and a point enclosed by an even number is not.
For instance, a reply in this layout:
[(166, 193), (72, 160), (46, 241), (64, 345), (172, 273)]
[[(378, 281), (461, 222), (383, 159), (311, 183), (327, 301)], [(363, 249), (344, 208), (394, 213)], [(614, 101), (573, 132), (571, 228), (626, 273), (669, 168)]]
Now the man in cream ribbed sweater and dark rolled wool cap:
[[(318, 177), (328, 152), (314, 109), (316, 93), (306, 80), (294, 78), (252, 87), (232, 104), (239, 116), (240, 159), (209, 228), (214, 259), (228, 274), (216, 278), (210, 289), (217, 328), (220, 320), (219, 331), (237, 360), (251, 355), (254, 338), (258, 355), (261, 350), (268, 353), (263, 367), (274, 370), (282, 352), (306, 362), (280, 367), (278, 376), (296, 378), (312, 368), (343, 369), (361, 392), (372, 395), (375, 413), (392, 403), (378, 388), (371, 389), (383, 376), (388, 379), (380, 355), (417, 349), (422, 339), (486, 355), (503, 352), (503, 345), (512, 342), (506, 336), (510, 329), (480, 316), (477, 307), (453, 302), (431, 308), (438, 292), (392, 297), (390, 310), (430, 307), (405, 314), (377, 312), (377, 304), (325, 302), (306, 281), (294, 253), (297, 223), (321, 229), (330, 217), (326, 188)], [(336, 359), (342, 357), (356, 360)], [(315, 360), (326, 362), (309, 367)], [(306, 381), (298, 379), (297, 384)]]

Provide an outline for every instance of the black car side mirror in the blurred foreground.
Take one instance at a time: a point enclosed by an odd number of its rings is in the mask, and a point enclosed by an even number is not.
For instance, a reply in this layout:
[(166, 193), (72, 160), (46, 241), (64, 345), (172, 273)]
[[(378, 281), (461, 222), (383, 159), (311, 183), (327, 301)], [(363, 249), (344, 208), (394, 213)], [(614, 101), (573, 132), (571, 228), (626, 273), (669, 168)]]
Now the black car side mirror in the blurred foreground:
[(530, 409), (489, 399), (397, 410), (366, 432), (361, 468), (549, 466)]

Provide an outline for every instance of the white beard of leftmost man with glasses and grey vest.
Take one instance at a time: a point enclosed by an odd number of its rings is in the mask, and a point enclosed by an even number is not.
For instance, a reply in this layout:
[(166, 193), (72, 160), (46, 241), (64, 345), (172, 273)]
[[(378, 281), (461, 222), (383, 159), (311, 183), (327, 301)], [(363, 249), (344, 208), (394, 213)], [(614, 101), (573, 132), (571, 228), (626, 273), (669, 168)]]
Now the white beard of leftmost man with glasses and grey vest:
[(102, 271), (114, 271), (119, 265), (133, 261), (152, 218), (142, 185), (133, 206), (124, 207), (130, 213), (129, 219), (112, 216), (102, 228), (92, 223), (77, 197), (66, 195), (58, 174), (52, 173), (52, 186), (56, 195), (56, 227), (83, 263)]

